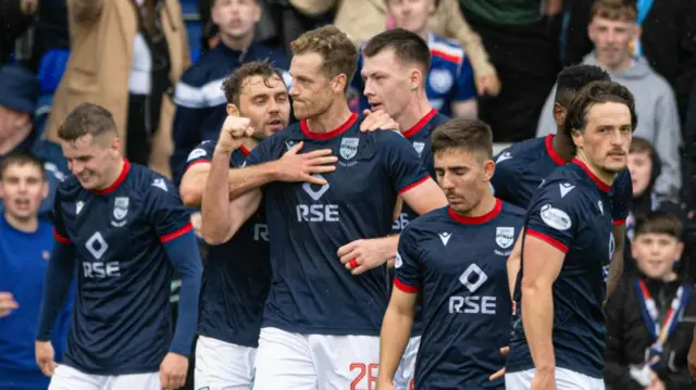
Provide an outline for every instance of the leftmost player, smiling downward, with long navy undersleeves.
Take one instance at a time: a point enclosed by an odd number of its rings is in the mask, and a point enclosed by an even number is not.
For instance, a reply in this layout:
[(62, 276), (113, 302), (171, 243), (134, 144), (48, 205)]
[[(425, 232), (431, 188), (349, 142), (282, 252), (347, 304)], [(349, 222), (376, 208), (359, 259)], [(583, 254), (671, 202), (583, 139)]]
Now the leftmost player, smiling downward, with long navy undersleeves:
[[(122, 158), (113, 116), (80, 104), (58, 133), (74, 176), (61, 183), (55, 246), (46, 275), (36, 360), (51, 390), (178, 389), (198, 320), (201, 261), (190, 217), (166, 179)], [(51, 328), (77, 265), (63, 364)], [(174, 337), (169, 309), (182, 276)], [(159, 375), (158, 375), (159, 370)]]

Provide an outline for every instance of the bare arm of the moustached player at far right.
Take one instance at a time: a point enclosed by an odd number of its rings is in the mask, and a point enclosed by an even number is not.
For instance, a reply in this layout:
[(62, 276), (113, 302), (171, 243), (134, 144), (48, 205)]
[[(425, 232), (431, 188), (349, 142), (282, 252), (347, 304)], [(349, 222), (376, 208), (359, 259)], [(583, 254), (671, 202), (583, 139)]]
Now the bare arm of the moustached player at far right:
[[(566, 253), (537, 235), (526, 232), (522, 248), (522, 324), (536, 369), (534, 389), (555, 385), (556, 357), (551, 332), (554, 328), (552, 285), (558, 278)], [(534, 387), (536, 386), (536, 387)]]

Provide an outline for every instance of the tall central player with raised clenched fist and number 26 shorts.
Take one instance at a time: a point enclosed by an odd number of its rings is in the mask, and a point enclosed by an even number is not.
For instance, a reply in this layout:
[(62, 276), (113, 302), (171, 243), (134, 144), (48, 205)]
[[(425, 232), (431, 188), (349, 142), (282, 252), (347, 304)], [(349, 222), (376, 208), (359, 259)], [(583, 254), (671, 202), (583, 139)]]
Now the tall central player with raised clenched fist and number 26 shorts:
[[(248, 165), (258, 166), (234, 169), (229, 193), (211, 173), (203, 235), (228, 239), (265, 198), (273, 279), (256, 390), (276, 389), (278, 382), (298, 390), (365, 387), (376, 377), (387, 286), (384, 266), (362, 272), (396, 255), (397, 238), (385, 236), (398, 194), (418, 213), (446, 199), (401, 136), (358, 129), (345, 95), (358, 51), (344, 33), (333, 26), (311, 30), (291, 49), (289, 92), (300, 123), (251, 151)], [(251, 133), (248, 121), (228, 119), (213, 169), (216, 161), (221, 167), (228, 163), (223, 137), (229, 147)], [(281, 175), (288, 156), (297, 172)], [(312, 166), (314, 177), (307, 173)], [(228, 196), (234, 200), (225, 204)]]

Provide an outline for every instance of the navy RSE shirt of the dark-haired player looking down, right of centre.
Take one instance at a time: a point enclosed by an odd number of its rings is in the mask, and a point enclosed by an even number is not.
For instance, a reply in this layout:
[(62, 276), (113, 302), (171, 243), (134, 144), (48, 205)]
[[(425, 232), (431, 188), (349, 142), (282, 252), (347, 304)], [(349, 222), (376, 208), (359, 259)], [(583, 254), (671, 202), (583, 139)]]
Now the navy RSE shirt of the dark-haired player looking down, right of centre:
[(478, 217), (449, 207), (409, 224), (399, 238), (395, 286), (423, 298), (417, 389), (504, 389), (488, 376), (510, 339), (507, 259), (524, 210), (496, 200)]

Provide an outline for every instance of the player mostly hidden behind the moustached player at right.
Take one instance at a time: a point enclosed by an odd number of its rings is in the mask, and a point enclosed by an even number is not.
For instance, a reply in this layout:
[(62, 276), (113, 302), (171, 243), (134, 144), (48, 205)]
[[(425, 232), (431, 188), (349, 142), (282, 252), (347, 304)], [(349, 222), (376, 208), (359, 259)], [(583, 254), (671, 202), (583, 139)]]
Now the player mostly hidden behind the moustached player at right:
[[(580, 89), (593, 81), (609, 81), (609, 74), (594, 65), (573, 65), (558, 74), (554, 117), (556, 135), (529, 139), (502, 150), (496, 156), (496, 173), (490, 183), (497, 198), (526, 209), (532, 196), (542, 187), (546, 178), (560, 165), (572, 160), (573, 140), (566, 128), (566, 116), (573, 98)], [(625, 237), (625, 219), (631, 209), (633, 197), (631, 174), (623, 169), (611, 186), (610, 213), (613, 216), (613, 236), (616, 251), (608, 269), (607, 295), (611, 294), (621, 279), (623, 272), (623, 246)], [(510, 289), (514, 288), (519, 269), (519, 248), (510, 259)]]

